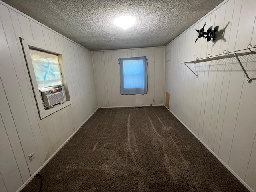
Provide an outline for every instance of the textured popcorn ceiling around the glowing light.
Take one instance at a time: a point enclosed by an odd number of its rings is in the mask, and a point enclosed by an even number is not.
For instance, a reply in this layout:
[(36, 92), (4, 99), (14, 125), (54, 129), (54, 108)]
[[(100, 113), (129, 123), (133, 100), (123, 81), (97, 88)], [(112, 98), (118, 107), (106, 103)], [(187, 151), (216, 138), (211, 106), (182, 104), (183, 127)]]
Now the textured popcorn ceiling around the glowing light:
[[(3, 0), (89, 50), (165, 46), (222, 0)], [(114, 19), (129, 15), (124, 30)]]

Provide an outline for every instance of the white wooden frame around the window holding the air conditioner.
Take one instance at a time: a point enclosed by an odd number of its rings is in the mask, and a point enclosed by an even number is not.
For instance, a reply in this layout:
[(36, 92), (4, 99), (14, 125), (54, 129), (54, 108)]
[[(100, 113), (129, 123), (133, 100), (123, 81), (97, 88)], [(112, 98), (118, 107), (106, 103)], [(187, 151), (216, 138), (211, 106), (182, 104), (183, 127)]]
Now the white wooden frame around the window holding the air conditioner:
[[(42, 120), (43, 118), (53, 114), (54, 112), (61, 110), (69, 105), (72, 104), (72, 101), (70, 100), (70, 95), (68, 92), (68, 84), (66, 81), (66, 73), (64, 70), (64, 60), (65, 60), (65, 54), (63, 50), (57, 50), (55, 48), (46, 46), (46, 45), (41, 45), (41, 44), (36, 44), (35, 42), (27, 42), (26, 40), (24, 40), (24, 38), (20, 37), (20, 42), (22, 44), (22, 50), (24, 53), (24, 57), (25, 57), (25, 61), (26, 61), (26, 67), (28, 70), (28, 74), (30, 77), (30, 83), (32, 85), (32, 90), (34, 92), (34, 97), (36, 100), (36, 106), (38, 108), (38, 113), (39, 113), (39, 117)], [(42, 104), (42, 99), (41, 99), (41, 95), (39, 92), (39, 88), (38, 88), (38, 84), (36, 81), (36, 75), (34, 72), (34, 67), (33, 67), (33, 63), (32, 63), (32, 58), (30, 56), (30, 49), (34, 49), (34, 50), (38, 50), (38, 51), (42, 51), (42, 52), (47, 52), (50, 54), (55, 54), (58, 56), (58, 60), (59, 60), (59, 65), (60, 65), (60, 72), (62, 73), (62, 82), (64, 85), (64, 94), (66, 97), (66, 101), (58, 106), (55, 106), (53, 108), (48, 108), (48, 109), (44, 109), (44, 106)]]

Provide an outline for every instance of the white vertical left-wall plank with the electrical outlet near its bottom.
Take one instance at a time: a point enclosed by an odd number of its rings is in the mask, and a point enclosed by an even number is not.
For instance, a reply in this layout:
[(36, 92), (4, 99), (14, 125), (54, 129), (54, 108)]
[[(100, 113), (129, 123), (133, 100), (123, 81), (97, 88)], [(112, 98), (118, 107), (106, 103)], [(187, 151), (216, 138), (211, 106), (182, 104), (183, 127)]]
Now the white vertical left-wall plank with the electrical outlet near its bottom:
[[(36, 149), (26, 107), (14, 69), (14, 63), (4, 35), (4, 30), (1, 24), (1, 80), (12, 111), (14, 122), (16, 122), (16, 128), (20, 136), (21, 144), (24, 146), (23, 149), (27, 162), (29, 162), (28, 156), (34, 152), (35, 160), (29, 164), (29, 168), (32, 172), (35, 172), (40, 167), (38, 151)], [(13, 93), (13, 90), (15, 90), (15, 94)]]

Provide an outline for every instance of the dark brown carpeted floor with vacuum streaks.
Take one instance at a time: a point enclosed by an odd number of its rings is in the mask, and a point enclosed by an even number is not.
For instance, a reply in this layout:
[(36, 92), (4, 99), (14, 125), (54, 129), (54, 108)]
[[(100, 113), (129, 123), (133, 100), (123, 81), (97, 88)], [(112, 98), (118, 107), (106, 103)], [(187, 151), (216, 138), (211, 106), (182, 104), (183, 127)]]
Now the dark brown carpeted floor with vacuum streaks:
[(40, 173), (42, 192), (248, 191), (164, 106), (98, 109)]

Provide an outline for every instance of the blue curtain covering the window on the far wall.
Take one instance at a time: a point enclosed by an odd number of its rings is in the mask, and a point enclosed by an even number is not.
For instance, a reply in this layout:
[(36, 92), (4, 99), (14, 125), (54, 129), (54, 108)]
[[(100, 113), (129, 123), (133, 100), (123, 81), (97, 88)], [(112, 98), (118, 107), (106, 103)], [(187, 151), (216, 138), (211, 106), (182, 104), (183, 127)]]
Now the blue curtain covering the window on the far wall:
[(148, 92), (148, 60), (146, 57), (119, 58), (121, 95)]

